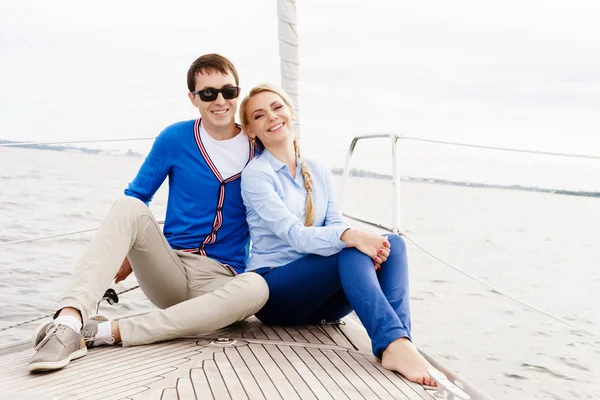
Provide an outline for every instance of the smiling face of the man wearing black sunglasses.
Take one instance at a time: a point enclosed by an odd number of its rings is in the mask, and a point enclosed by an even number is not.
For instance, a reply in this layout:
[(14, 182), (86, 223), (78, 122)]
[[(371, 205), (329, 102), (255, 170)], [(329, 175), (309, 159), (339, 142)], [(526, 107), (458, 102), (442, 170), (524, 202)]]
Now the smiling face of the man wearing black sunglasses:
[[(201, 71), (196, 74), (195, 90), (222, 89), (227, 86), (236, 86), (231, 73), (223, 75), (217, 71)], [(227, 100), (223, 93), (219, 93), (213, 101), (202, 101), (199, 94), (189, 93), (189, 97), (192, 104), (200, 110), (202, 122), (207, 129), (222, 129), (234, 124), (239, 97)]]

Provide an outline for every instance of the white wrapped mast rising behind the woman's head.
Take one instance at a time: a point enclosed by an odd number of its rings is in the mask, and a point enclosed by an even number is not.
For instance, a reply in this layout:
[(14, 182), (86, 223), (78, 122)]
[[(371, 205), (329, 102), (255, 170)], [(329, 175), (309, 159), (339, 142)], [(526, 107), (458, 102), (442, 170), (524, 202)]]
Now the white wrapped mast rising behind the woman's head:
[(277, 30), (279, 58), (281, 60), (281, 87), (292, 98), (296, 111), (294, 133), (300, 139), (300, 54), (298, 49), (298, 26), (296, 0), (277, 0)]

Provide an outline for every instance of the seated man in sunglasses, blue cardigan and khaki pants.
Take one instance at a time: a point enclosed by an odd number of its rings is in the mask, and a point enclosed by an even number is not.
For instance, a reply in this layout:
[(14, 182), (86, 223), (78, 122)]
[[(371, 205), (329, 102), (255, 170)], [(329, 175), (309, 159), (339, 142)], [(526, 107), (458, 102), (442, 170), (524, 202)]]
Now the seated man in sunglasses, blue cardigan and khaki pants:
[[(79, 260), (54, 321), (34, 334), (30, 371), (63, 368), (94, 345), (210, 332), (265, 304), (262, 277), (243, 273), (249, 234), (240, 175), (254, 146), (234, 122), (237, 71), (225, 57), (206, 54), (192, 63), (187, 81), (201, 118), (173, 124), (156, 138)], [(147, 204), (167, 176), (163, 234)], [(118, 321), (90, 319), (113, 278), (119, 282), (132, 270), (159, 309)]]

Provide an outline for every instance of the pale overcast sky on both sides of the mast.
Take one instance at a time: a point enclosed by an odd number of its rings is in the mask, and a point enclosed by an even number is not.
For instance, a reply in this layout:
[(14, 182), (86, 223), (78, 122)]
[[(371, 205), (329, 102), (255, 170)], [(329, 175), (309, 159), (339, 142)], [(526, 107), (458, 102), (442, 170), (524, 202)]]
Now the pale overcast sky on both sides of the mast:
[[(394, 131), (600, 153), (598, 1), (299, 0), (298, 21), (309, 149)], [(275, 0), (2, 1), (0, 138), (155, 136), (196, 117), (207, 52), (278, 83)]]

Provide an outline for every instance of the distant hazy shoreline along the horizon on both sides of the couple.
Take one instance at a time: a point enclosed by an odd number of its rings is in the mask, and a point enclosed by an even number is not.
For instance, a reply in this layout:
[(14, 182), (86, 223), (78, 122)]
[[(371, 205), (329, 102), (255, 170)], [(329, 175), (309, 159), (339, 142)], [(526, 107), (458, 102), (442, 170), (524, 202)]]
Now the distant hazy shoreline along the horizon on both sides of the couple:
[[(10, 140), (2, 140), (0, 139), (0, 144), (12, 144), (12, 143), (20, 143), (13, 142)], [(101, 150), (101, 149), (89, 149), (85, 147), (73, 147), (66, 145), (48, 145), (48, 144), (28, 144), (28, 143), (20, 143), (14, 146), (16, 148), (24, 148), (24, 149), (33, 149), (33, 150), (52, 150), (52, 151), (68, 151), (68, 152), (79, 152), (84, 154), (97, 154), (97, 155), (118, 155), (124, 157), (145, 157), (145, 154), (138, 153), (131, 149), (126, 152), (119, 151), (110, 151), (110, 150)], [(2, 147), (0, 147), (1, 149)], [(343, 168), (332, 168), (331, 172), (334, 175), (342, 175), (344, 172)], [(361, 177), (361, 178), (369, 178), (369, 179), (383, 179), (383, 180), (391, 180), (392, 176), (387, 174), (378, 174), (372, 171), (366, 171), (362, 169), (351, 169), (350, 176)], [(437, 185), (451, 185), (451, 186), (463, 186), (470, 188), (484, 188), (484, 189), (507, 189), (507, 190), (520, 190), (526, 192), (539, 192), (539, 193), (551, 193), (551, 194), (562, 194), (567, 196), (582, 196), (582, 197), (596, 197), (600, 198), (600, 192), (585, 192), (585, 191), (575, 191), (575, 190), (565, 190), (565, 189), (548, 189), (548, 188), (539, 188), (533, 186), (521, 186), (521, 185), (497, 185), (497, 184), (488, 184), (488, 183), (477, 183), (477, 182), (464, 182), (464, 181), (450, 181), (446, 179), (434, 179), (434, 178), (421, 178), (421, 177), (401, 177), (401, 181), (403, 182), (419, 182), (419, 183), (432, 183)]]

